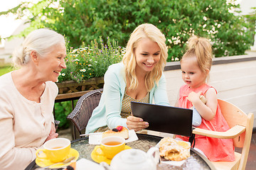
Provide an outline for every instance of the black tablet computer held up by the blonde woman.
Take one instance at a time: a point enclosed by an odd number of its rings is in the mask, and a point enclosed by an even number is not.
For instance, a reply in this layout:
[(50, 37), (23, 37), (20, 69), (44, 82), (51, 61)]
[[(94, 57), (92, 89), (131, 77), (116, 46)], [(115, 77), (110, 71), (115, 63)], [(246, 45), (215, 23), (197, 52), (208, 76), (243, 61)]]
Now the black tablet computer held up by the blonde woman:
[(193, 110), (131, 101), (132, 115), (149, 123), (147, 130), (190, 137)]

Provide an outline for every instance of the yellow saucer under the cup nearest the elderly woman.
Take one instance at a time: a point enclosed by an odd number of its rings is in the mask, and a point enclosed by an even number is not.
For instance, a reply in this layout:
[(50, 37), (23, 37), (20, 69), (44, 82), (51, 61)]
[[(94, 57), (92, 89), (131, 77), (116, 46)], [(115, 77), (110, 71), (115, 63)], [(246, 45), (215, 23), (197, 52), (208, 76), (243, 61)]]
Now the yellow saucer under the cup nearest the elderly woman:
[[(79, 153), (78, 153), (77, 150), (75, 150), (73, 148), (70, 148), (70, 153), (68, 154), (68, 157), (75, 157), (74, 160), (76, 161), (76, 160), (78, 160)], [(49, 166), (51, 164), (55, 164), (55, 162), (51, 162), (49, 159), (39, 159), (39, 158), (36, 158), (36, 164), (38, 166), (45, 167), (45, 166)], [(71, 162), (67, 163), (67, 164), (60, 163), (60, 164), (56, 164), (56, 165), (50, 166), (48, 169), (58, 169), (58, 168), (61, 168), (63, 166), (68, 166), (70, 164), (71, 164)]]

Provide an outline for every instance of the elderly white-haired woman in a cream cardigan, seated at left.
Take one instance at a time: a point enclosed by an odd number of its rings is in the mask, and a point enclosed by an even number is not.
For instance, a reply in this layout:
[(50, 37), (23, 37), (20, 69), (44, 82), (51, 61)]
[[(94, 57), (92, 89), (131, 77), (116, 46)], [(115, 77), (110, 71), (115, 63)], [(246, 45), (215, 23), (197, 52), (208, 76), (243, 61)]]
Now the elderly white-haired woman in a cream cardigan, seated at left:
[(63, 35), (45, 28), (31, 32), (14, 52), (20, 69), (0, 77), (0, 169), (25, 169), (38, 147), (58, 137), (54, 82), (66, 68), (65, 56)]

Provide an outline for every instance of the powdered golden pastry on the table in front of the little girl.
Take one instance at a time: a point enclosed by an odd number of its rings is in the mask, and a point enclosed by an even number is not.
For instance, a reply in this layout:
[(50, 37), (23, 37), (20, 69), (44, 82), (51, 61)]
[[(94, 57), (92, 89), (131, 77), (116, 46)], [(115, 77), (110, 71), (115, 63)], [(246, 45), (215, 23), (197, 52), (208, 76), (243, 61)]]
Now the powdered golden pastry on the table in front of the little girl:
[(159, 142), (160, 156), (170, 161), (182, 161), (190, 157), (190, 145), (171, 137), (164, 137)]

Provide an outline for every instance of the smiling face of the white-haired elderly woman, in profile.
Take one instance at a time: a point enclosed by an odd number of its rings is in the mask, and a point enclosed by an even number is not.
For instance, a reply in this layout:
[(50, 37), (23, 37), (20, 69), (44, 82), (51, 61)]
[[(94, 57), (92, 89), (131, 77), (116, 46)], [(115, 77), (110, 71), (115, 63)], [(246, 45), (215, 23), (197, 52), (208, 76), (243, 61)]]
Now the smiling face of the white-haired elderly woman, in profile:
[[(55, 45), (53, 50), (46, 56), (39, 57), (38, 72), (41, 74), (43, 81), (58, 81), (58, 76), (62, 69), (66, 68), (65, 45)], [(51, 50), (51, 49), (50, 49)]]

